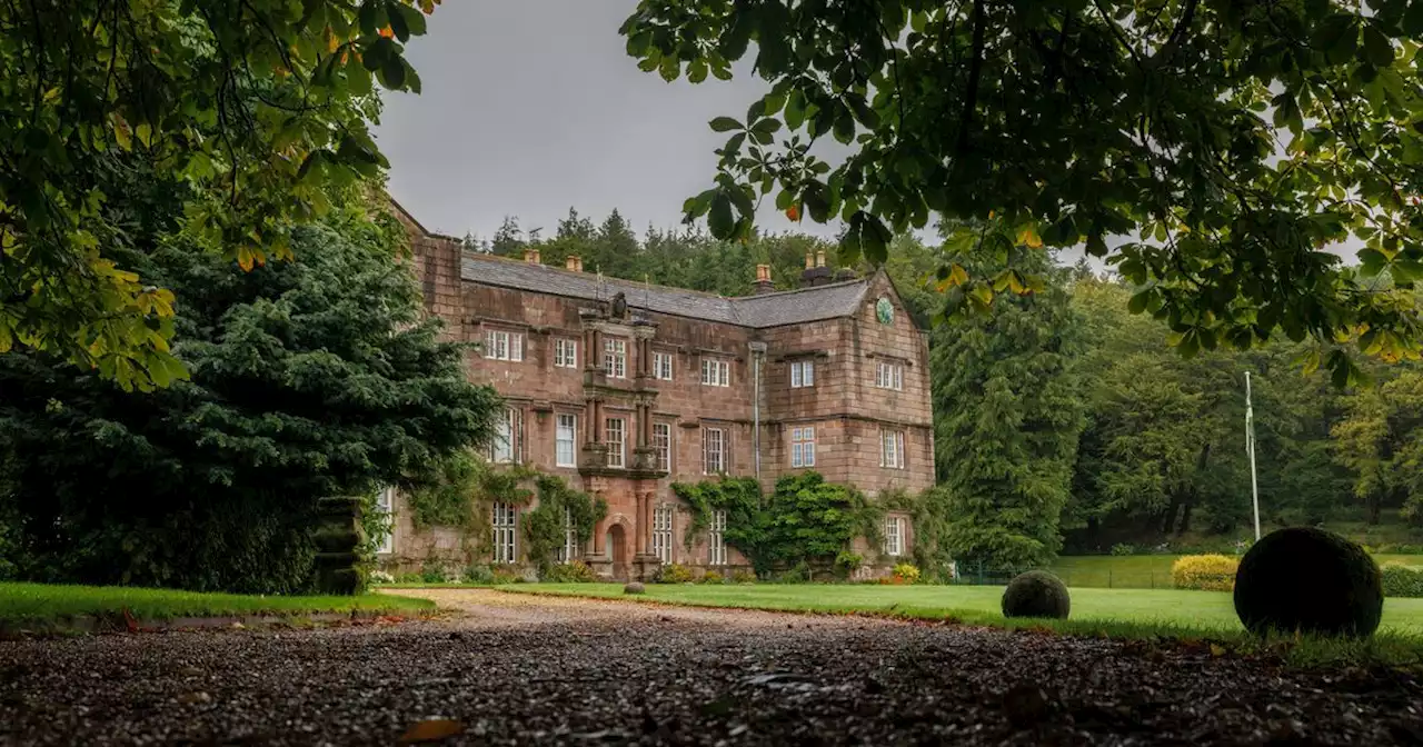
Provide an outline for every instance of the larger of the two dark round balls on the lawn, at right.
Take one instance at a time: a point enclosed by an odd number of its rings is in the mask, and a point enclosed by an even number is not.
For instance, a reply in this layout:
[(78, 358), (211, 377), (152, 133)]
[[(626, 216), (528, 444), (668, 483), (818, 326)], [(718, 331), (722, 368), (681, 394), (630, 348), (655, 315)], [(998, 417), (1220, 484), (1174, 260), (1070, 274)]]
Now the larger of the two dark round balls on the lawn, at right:
[(1383, 616), (1379, 565), (1359, 545), (1323, 529), (1271, 532), (1235, 572), (1235, 615), (1255, 635), (1370, 636)]

